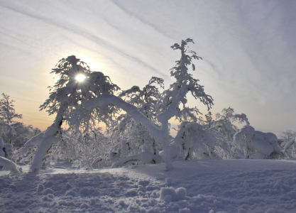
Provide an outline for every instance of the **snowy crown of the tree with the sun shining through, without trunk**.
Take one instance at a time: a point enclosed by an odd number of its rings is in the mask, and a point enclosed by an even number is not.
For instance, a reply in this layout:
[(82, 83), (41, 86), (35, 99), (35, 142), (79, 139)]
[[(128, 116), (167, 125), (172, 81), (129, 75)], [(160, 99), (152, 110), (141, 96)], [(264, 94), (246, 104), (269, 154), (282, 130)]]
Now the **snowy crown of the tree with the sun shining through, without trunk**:
[[(92, 72), (89, 66), (75, 55), (62, 58), (50, 73), (57, 75), (59, 79), (53, 87), (50, 87), (50, 97), (40, 106), (40, 110), (47, 109), (49, 114), (57, 113), (56, 124), (62, 121), (68, 122), (73, 116), (84, 116), (81, 121), (87, 126), (89, 122), (96, 123), (97, 119), (108, 121), (106, 114), (99, 114), (99, 111), (103, 110), (99, 108), (91, 112), (81, 110), (84, 111), (83, 115), (74, 114), (75, 109), (84, 108), (84, 102), (87, 100), (101, 94), (114, 94), (120, 89), (108, 76), (102, 72)], [(78, 75), (84, 75), (84, 80), (77, 80)], [(109, 110), (111, 109), (108, 108), (107, 111)]]

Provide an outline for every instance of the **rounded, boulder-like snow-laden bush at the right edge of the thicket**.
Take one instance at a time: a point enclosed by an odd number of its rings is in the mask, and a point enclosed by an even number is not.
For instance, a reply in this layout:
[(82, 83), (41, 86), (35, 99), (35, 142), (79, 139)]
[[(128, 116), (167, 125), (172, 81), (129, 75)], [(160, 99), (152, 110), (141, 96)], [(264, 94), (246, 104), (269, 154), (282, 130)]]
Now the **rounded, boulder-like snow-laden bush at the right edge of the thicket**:
[[(278, 146), (278, 137), (274, 133), (255, 131), (252, 126), (243, 126), (234, 135), (234, 143), (234, 151), (241, 158), (278, 159), (283, 155)], [(243, 151), (243, 155), (236, 148)]]

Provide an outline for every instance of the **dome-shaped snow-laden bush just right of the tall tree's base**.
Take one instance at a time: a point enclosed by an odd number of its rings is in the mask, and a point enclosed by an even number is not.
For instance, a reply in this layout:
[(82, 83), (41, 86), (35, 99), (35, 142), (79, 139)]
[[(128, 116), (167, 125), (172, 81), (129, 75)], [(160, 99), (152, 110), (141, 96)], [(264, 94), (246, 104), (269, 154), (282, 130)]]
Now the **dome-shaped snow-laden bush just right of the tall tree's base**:
[(214, 129), (184, 121), (172, 143), (176, 160), (232, 158), (227, 139)]

